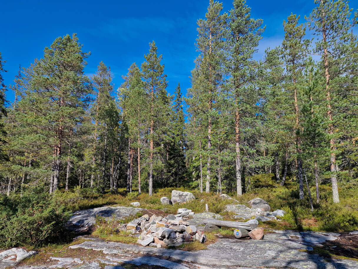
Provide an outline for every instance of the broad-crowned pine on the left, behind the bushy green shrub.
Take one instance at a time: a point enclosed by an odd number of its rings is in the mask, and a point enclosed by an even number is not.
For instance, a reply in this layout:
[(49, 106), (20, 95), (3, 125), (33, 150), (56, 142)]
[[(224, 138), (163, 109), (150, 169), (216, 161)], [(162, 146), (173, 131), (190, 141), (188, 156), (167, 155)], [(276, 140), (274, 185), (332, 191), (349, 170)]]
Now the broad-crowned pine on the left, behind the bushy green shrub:
[(52, 148), (50, 193), (59, 185), (63, 145), (82, 121), (89, 101), (88, 79), (83, 73), (88, 55), (82, 52), (76, 34), (59, 37), (21, 77), (18, 119), (26, 130), (22, 135), (29, 135), (24, 139), (38, 154), (49, 157), (48, 148)]

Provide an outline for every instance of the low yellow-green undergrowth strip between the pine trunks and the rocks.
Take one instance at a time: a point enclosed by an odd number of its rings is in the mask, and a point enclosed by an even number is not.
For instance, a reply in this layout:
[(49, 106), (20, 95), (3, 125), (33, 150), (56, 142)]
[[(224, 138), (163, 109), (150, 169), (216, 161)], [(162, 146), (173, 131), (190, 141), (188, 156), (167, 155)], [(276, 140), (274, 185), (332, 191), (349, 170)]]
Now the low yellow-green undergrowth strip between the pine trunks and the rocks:
[[(239, 203), (246, 204), (255, 197), (266, 200), (271, 210), (283, 209), (286, 214), (281, 221), (263, 222), (260, 226), (276, 229), (313, 230), (313, 231), (351, 231), (358, 229), (358, 188), (351, 186), (340, 187), (340, 203), (332, 202), (332, 189), (330, 185), (320, 185), (320, 203), (314, 202), (314, 211), (310, 210), (308, 192), (305, 189), (305, 199), (299, 199), (298, 185), (294, 178), (288, 177), (285, 186), (276, 183), (274, 174), (262, 174), (250, 176), (247, 179), (247, 192), (241, 197), (234, 193), (228, 194), (237, 199)], [(185, 205), (162, 205), (160, 198), (171, 197), (173, 189), (190, 191), (195, 195), (195, 200)], [(310, 188), (315, 201), (315, 187)], [(126, 193), (126, 190), (118, 189), (118, 193), (98, 194), (91, 189), (74, 189), (71, 192), (57, 192), (56, 196), (68, 210), (82, 210), (107, 205), (129, 206), (131, 202), (140, 202), (141, 208), (160, 210), (165, 213), (175, 214), (178, 208), (185, 207), (199, 213), (205, 211), (208, 204), (209, 211), (224, 215), (230, 219), (231, 213), (224, 212), (225, 205), (232, 200), (221, 199), (219, 195), (212, 193), (200, 193), (198, 189), (189, 188), (163, 188), (156, 189), (153, 196), (147, 193), (139, 194), (137, 191)], [(203, 200), (203, 202), (200, 202)]]

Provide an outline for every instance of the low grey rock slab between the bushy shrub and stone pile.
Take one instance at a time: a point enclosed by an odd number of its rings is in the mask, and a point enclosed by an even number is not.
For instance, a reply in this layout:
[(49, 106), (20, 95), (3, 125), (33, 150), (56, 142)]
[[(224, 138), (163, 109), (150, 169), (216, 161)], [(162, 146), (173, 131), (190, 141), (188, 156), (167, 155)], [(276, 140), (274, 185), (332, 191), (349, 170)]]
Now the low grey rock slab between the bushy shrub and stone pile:
[(141, 211), (143, 211), (142, 208), (121, 206), (105, 206), (85, 209), (74, 212), (67, 224), (81, 227), (91, 227), (96, 224), (96, 216), (104, 217), (107, 220), (111, 219), (112, 217), (114, 217), (115, 220), (122, 220)]

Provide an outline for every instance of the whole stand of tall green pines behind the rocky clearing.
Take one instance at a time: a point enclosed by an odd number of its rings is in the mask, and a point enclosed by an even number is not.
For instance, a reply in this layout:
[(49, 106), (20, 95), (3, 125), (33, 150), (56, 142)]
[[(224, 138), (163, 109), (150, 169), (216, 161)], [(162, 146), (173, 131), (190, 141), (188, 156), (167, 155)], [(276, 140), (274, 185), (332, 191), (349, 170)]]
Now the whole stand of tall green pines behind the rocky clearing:
[(284, 20), (281, 46), (257, 61), (263, 20), (245, 0), (228, 12), (210, 0), (185, 97), (179, 84), (168, 94), (155, 42), (118, 89), (103, 62), (84, 75), (89, 53), (76, 34), (55, 39), (9, 87), (0, 54), (0, 191), (190, 185), (242, 195), (250, 175), (274, 173), (281, 185), (297, 180), (300, 199), (314, 182), (317, 203), (331, 183), (338, 203), (338, 182), (358, 178), (358, 13), (344, 0), (314, 3), (305, 24)]

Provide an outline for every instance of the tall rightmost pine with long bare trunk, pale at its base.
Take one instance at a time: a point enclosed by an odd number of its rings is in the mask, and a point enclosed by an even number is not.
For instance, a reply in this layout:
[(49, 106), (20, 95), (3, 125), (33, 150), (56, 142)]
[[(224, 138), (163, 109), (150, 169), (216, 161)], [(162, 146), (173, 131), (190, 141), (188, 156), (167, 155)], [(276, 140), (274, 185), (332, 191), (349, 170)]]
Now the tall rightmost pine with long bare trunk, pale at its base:
[[(338, 113), (344, 107), (343, 96), (349, 95), (344, 85), (342, 76), (350, 70), (354, 70), (354, 55), (358, 51), (357, 37), (353, 35), (352, 28), (358, 24), (358, 13), (350, 18), (352, 9), (349, 9), (348, 1), (344, 0), (315, 0), (317, 5), (307, 18), (308, 25), (319, 38), (316, 41), (314, 53), (321, 56), (321, 68), (325, 77), (325, 95), (328, 128), (328, 140), (330, 143), (330, 178), (332, 182), (333, 202), (339, 203), (337, 171), (337, 140), (343, 132), (335, 131), (337, 127), (344, 127), (342, 113)], [(345, 76), (349, 79), (349, 76)], [(341, 129), (342, 130), (342, 129)], [(350, 130), (346, 130), (350, 131)]]

